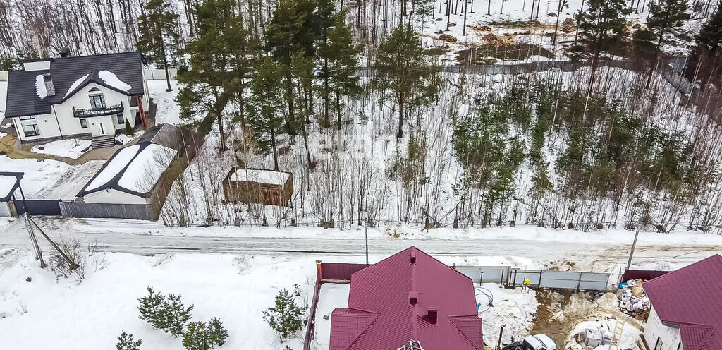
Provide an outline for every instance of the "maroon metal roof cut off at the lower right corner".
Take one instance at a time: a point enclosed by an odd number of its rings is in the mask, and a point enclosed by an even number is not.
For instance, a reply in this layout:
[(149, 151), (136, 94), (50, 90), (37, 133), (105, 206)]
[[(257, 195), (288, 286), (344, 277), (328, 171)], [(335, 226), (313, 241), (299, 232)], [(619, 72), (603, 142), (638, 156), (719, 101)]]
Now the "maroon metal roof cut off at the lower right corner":
[(684, 350), (722, 349), (722, 257), (680, 268), (644, 283), (663, 323), (679, 325)]

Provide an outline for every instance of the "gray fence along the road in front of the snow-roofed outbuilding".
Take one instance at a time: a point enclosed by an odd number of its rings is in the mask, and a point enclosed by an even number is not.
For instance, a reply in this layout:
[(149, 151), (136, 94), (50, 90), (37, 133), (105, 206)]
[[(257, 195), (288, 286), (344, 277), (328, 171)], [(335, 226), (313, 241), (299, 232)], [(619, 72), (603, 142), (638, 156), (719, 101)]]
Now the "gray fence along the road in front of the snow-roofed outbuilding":
[(153, 209), (148, 204), (60, 202), (60, 210), (66, 218), (156, 220)]

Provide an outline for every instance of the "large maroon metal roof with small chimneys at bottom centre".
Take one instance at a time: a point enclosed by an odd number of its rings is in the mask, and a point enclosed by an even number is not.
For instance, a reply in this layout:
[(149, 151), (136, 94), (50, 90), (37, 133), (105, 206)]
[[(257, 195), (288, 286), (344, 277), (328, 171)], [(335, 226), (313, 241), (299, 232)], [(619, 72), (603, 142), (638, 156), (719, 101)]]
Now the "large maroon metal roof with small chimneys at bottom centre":
[[(409, 343), (412, 341), (412, 343)], [(330, 350), (483, 350), (471, 279), (410, 247), (354, 273)]]

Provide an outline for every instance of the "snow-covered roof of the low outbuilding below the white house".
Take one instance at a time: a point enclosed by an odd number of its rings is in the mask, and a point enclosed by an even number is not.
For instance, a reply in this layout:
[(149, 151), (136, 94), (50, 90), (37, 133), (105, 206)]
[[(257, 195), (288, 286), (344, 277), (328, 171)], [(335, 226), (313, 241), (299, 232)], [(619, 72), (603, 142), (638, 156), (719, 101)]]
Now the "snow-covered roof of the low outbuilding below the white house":
[(103, 189), (147, 197), (177, 153), (173, 148), (150, 142), (122, 148), (90, 179), (78, 197)]

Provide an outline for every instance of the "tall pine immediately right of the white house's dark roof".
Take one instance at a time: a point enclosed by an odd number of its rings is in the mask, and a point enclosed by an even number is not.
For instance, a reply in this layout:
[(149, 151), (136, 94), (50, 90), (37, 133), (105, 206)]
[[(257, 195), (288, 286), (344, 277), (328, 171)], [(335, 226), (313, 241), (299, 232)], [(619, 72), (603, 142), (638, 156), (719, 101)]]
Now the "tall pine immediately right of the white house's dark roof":
[(138, 17), (140, 36), (136, 48), (145, 55), (149, 63), (160, 64), (162, 69), (165, 69), (165, 82), (168, 84), (166, 91), (173, 90), (170, 87), (166, 51), (177, 49), (181, 42), (178, 17), (178, 14), (170, 11), (170, 4), (164, 0), (149, 0), (145, 5), (145, 12)]

